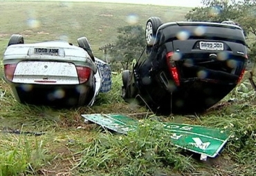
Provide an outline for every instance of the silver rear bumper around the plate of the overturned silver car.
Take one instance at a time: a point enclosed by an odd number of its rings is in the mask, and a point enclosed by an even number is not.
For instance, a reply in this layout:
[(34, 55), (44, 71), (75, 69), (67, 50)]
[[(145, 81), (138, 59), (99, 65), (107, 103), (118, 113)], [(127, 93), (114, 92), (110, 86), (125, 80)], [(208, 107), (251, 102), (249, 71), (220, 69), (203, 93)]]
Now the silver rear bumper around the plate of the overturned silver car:
[[(60, 55), (38, 55), (35, 48), (58, 48)], [(89, 54), (78, 46), (66, 41), (44, 41), (41, 43), (16, 44), (6, 48), (3, 54), (3, 64), (19, 63), (19, 61), (60, 61), (70, 62), (75, 66), (87, 66), (97, 71)]]

